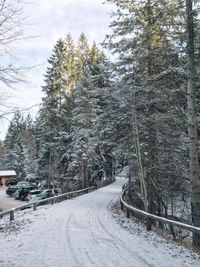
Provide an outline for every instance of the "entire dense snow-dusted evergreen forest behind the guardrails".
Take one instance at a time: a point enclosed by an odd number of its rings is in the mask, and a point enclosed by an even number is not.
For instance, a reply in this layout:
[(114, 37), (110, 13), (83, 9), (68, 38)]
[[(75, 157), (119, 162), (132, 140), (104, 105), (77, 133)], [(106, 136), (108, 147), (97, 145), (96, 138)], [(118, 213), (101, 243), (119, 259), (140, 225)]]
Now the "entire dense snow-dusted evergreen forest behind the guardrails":
[(55, 44), (39, 113), (14, 114), (0, 168), (69, 191), (127, 167), (134, 205), (199, 227), (198, 1), (107, 2), (116, 11), (101, 47), (84, 33)]

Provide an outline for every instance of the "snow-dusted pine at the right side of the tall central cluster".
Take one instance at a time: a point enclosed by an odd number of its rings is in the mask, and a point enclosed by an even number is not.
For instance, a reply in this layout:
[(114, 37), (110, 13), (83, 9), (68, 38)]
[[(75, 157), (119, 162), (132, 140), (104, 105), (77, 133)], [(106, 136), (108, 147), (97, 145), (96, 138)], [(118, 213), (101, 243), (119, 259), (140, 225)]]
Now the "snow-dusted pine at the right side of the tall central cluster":
[[(83, 186), (112, 177), (110, 147), (106, 145), (104, 113), (110, 89), (109, 64), (93, 44), (90, 58), (76, 88), (72, 124), (72, 155), (70, 170), (78, 175)], [(107, 91), (107, 94), (106, 94)], [(105, 110), (106, 109), (106, 110)], [(105, 139), (103, 139), (105, 138)], [(109, 176), (110, 175), (110, 176)]]

